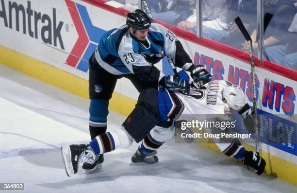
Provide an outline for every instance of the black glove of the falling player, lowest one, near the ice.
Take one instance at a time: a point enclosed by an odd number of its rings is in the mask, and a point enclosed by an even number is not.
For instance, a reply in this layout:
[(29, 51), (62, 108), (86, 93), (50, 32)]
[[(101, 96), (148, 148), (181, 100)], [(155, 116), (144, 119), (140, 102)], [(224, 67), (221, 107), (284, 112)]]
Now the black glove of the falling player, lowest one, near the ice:
[(264, 172), (266, 165), (266, 161), (264, 160), (264, 158), (252, 151), (246, 151), (245, 159), (243, 159), (242, 162), (247, 166), (251, 166), (252, 168), (254, 168), (257, 175), (261, 175)]

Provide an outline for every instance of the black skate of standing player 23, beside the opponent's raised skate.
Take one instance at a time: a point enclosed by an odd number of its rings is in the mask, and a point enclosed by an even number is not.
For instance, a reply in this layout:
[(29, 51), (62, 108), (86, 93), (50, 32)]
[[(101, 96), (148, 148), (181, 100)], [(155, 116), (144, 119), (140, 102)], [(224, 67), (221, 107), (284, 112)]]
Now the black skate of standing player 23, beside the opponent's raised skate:
[(102, 168), (102, 162), (104, 161), (103, 154), (93, 157), (92, 154), (88, 153), (86, 158), (87, 160), (82, 164), (82, 169), (84, 169), (86, 174), (99, 171)]

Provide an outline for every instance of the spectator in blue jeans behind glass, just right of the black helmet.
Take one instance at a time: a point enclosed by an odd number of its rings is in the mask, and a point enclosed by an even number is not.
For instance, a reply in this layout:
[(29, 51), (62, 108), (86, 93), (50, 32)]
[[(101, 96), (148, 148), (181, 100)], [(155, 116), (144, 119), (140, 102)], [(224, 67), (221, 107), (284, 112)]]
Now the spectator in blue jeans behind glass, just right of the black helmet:
[(153, 18), (174, 26), (192, 15), (195, 8), (194, 0), (147, 0), (147, 2), (152, 9)]

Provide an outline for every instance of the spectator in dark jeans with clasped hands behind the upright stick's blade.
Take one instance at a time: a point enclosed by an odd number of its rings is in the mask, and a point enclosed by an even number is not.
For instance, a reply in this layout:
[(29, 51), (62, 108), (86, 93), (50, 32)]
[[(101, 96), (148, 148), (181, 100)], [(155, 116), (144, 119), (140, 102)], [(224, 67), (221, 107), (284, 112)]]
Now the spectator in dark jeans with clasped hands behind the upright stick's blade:
[[(296, 14), (294, 6), (296, 0), (265, 0), (264, 15), (270, 13), (273, 15), (264, 32), (264, 49), (269, 46), (283, 45), (286, 43), (285, 37), (288, 36), (288, 28)], [(256, 9), (256, 7), (255, 7)], [(253, 24), (254, 31), (251, 34), (254, 51), (258, 48), (256, 23)], [(248, 52), (247, 42), (242, 44), (242, 50)]]

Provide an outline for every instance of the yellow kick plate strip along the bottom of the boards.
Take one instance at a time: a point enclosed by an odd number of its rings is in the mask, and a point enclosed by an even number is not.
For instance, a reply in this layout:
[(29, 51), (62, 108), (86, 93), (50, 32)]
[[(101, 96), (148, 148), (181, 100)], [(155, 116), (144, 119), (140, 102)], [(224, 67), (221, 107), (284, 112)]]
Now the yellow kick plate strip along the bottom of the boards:
[[(28, 74), (29, 76), (37, 78), (58, 88), (62, 88), (82, 98), (88, 99), (87, 80), (3, 46), (0, 46), (0, 53), (0, 64), (21, 71), (25, 74)], [(135, 104), (135, 100), (114, 92), (109, 108), (124, 115), (129, 115)], [(206, 143), (201, 145), (211, 150), (220, 152), (215, 144)], [(247, 150), (254, 150), (253, 147), (246, 144), (244, 145)], [(266, 160), (267, 165), (265, 172), (267, 174), (275, 175), (297, 185), (297, 178), (295, 176), (297, 174), (296, 164), (270, 155), (264, 151), (261, 151), (260, 153), (261, 156)]]

